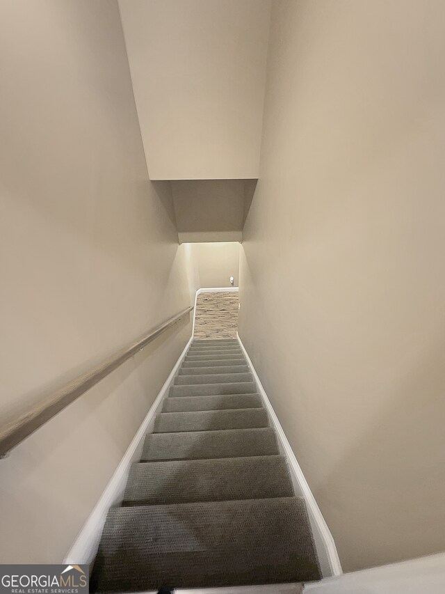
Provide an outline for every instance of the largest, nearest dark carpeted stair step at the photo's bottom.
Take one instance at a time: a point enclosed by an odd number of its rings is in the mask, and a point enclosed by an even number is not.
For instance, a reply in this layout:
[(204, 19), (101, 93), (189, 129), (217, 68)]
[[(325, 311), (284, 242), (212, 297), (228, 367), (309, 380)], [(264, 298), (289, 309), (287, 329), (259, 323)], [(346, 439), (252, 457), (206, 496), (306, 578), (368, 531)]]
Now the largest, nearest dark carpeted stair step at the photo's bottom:
[(302, 499), (113, 508), (92, 571), (96, 592), (320, 579)]

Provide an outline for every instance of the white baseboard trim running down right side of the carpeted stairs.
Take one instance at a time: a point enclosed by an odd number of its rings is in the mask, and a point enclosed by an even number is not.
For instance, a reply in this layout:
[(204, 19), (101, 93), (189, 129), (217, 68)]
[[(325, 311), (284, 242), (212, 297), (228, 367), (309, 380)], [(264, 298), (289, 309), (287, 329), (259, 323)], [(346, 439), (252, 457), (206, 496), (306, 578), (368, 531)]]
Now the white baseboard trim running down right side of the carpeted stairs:
[(300, 464), (298, 464), (298, 460), (292, 451), (291, 444), (289, 444), (289, 441), (287, 440), (286, 434), (284, 433), (281, 423), (275, 414), (273, 406), (270, 404), (270, 400), (268, 399), (266, 391), (259, 380), (258, 374), (252, 364), (252, 361), (250, 360), (248, 352), (245, 350), (243, 341), (241, 341), (238, 332), (236, 333), (236, 336), (241, 346), (241, 350), (245, 355), (245, 359), (248, 361), (254, 381), (257, 382), (258, 391), (261, 394), (261, 398), (263, 399), (264, 407), (268, 412), (270, 426), (273, 427), (277, 432), (280, 450), (282, 451), (282, 454), (286, 456), (287, 461), (289, 462), (293, 487), (296, 490), (296, 494), (300, 495), (300, 497), (303, 497), (303, 499), (306, 501), (323, 577), (341, 575), (343, 570), (341, 569), (341, 563), (337, 553), (337, 548), (335, 547), (334, 538), (332, 538), (330, 529), (327, 527), (323, 514), (321, 513), (321, 510), (315, 500), (314, 494), (307, 483)]

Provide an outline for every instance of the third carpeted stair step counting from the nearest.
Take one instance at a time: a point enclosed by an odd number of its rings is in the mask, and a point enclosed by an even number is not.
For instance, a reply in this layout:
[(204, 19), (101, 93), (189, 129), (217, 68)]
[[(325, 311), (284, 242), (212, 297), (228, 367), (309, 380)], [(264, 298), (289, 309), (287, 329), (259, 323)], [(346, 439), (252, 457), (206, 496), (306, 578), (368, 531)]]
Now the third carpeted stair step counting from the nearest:
[(202, 460), (279, 453), (270, 427), (151, 433), (141, 460)]

